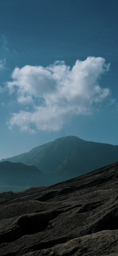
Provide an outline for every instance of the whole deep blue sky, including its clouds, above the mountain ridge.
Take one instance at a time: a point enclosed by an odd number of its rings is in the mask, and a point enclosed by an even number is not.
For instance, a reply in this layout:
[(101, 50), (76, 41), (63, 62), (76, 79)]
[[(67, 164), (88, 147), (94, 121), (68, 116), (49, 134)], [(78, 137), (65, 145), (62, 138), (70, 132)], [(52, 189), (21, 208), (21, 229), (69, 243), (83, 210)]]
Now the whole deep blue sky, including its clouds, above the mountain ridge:
[(117, 9), (0, 0), (0, 159), (69, 135), (118, 144)]

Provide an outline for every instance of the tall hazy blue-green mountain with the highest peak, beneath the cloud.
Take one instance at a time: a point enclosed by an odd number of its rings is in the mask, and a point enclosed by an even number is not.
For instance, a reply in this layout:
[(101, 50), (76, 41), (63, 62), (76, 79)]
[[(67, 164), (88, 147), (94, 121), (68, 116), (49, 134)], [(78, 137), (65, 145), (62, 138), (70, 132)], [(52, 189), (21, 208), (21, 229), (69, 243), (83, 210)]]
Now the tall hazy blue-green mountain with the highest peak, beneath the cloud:
[(67, 136), (1, 161), (5, 160), (34, 165), (44, 173), (66, 175), (67, 180), (118, 161), (118, 146)]

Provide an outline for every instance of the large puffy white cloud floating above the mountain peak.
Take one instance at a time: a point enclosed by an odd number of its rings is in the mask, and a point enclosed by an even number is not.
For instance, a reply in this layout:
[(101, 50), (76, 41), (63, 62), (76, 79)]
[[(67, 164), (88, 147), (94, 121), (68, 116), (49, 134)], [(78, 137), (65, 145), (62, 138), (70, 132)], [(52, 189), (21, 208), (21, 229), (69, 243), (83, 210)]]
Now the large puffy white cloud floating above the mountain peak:
[[(77, 60), (73, 68), (64, 61), (47, 66), (24, 66), (14, 69), (12, 82), (7, 82), (10, 94), (32, 111), (13, 113), (9, 127), (17, 125), (22, 131), (57, 131), (73, 115), (90, 114), (95, 105), (110, 96), (109, 88), (101, 88), (99, 78), (109, 70), (104, 58), (88, 57)], [(32, 125), (35, 129), (32, 129)]]

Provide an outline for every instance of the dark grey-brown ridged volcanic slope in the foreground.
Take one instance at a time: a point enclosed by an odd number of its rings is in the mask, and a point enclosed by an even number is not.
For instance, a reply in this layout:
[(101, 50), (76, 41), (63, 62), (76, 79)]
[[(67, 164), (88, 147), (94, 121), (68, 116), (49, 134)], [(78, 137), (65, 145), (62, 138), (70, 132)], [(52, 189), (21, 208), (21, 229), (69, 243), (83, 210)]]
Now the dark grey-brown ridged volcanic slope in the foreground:
[(0, 200), (0, 255), (118, 255), (118, 162)]

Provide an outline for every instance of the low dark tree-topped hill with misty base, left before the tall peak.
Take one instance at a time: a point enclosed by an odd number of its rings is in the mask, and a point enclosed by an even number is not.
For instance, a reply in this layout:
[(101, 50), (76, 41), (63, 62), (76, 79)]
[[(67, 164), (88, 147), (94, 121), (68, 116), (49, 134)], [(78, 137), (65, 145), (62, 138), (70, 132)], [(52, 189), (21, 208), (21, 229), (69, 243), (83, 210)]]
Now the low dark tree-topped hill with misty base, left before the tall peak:
[(66, 175), (43, 173), (33, 165), (0, 162), (0, 193), (9, 190), (19, 192), (32, 186), (49, 186), (66, 178)]

